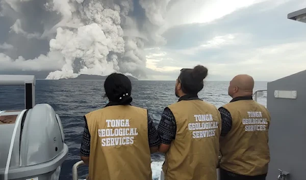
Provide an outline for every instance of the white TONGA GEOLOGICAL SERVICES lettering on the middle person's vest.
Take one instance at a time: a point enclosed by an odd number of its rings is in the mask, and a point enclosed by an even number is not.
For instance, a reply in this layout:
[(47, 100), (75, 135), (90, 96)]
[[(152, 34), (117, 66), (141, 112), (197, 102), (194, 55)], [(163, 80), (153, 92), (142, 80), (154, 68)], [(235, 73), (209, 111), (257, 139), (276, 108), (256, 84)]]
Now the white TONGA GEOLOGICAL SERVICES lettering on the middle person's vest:
[(192, 138), (206, 138), (216, 135), (219, 122), (213, 120), (212, 114), (196, 114), (193, 116), (195, 122), (199, 123), (188, 124), (189, 131), (192, 131)]

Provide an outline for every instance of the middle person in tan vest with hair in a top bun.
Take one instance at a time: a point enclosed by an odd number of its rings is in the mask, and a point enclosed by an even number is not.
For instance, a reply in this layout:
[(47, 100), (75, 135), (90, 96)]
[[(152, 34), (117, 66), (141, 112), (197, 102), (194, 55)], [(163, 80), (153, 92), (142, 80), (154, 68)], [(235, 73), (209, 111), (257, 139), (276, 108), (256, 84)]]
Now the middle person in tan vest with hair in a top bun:
[(158, 133), (165, 153), (165, 180), (217, 180), (221, 115), (198, 98), (208, 69), (182, 69), (175, 83), (178, 102), (164, 109)]

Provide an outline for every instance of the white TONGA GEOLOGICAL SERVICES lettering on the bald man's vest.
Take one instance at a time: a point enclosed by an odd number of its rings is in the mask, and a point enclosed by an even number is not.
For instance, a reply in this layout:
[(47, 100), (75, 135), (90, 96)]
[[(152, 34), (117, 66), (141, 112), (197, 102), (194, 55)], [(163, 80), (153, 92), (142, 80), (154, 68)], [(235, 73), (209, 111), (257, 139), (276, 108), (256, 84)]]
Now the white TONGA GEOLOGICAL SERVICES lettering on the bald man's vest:
[(242, 124), (244, 125), (244, 131), (266, 131), (268, 121), (267, 118), (263, 118), (260, 111), (248, 111), (249, 118), (243, 118)]

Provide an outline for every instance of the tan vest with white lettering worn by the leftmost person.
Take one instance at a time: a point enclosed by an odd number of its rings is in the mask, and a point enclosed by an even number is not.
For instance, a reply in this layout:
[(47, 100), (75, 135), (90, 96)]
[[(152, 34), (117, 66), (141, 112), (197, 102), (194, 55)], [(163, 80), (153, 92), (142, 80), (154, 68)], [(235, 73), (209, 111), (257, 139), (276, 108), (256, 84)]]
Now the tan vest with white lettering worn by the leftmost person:
[(108, 106), (85, 116), (90, 179), (152, 179), (146, 109)]

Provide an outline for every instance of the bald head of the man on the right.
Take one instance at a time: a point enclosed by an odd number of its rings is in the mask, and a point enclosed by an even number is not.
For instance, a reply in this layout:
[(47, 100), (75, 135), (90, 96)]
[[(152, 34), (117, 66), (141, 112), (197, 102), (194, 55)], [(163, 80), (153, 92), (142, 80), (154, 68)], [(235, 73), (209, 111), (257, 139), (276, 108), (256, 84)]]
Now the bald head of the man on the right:
[(254, 79), (247, 74), (235, 76), (228, 86), (228, 95), (230, 96), (251, 96), (254, 88)]

